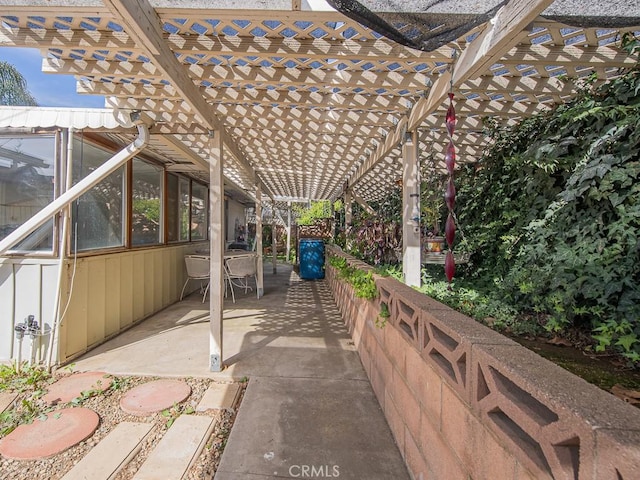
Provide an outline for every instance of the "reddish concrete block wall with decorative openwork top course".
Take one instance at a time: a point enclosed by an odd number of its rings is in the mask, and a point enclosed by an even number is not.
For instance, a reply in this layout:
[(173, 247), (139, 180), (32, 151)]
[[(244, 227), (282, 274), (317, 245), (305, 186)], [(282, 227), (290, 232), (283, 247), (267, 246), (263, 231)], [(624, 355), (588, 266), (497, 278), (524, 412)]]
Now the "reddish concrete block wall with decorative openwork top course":
[(396, 280), (365, 301), (326, 273), (414, 478), (640, 478), (637, 408)]

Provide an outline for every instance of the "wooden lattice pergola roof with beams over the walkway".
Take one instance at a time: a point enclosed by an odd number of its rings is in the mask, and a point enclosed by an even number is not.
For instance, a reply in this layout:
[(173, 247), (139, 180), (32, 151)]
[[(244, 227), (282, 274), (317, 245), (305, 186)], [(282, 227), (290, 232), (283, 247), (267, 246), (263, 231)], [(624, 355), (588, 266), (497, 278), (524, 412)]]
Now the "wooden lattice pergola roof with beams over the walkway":
[[(431, 3), (406, 9), (424, 16)], [(633, 65), (611, 25), (633, 30), (640, 7), (609, 3), (615, 21), (568, 0), (512, 0), (493, 22), (424, 52), (295, 0), (216, 8), (198, 0), (0, 0), (0, 46), (39, 48), (45, 72), (75, 75), (78, 91), (105, 95), (107, 107), (144, 112), (154, 145), (190, 162), (174, 171), (205, 173), (208, 133), (222, 129), (231, 154), (224, 174), (246, 191), (259, 182), (276, 201), (306, 201), (334, 198), (347, 184), (372, 201), (401, 176), (407, 130), (418, 130), (423, 158), (441, 167), (451, 83), (458, 156), (474, 161), (487, 144), (483, 117), (516, 122), (570, 98), (574, 86), (561, 77), (605, 79)], [(469, 17), (456, 2), (436, 4), (449, 9), (433, 17), (439, 22)], [(554, 16), (541, 17), (545, 9)], [(406, 27), (397, 15), (387, 21)]]

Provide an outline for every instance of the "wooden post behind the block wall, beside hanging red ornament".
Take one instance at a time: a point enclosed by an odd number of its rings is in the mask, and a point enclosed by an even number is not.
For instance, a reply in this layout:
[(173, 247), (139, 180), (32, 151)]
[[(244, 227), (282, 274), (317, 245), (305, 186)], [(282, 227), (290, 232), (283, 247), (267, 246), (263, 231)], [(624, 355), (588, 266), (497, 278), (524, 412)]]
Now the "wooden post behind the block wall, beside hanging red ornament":
[(407, 132), (402, 147), (402, 275), (404, 283), (420, 286), (420, 179), (418, 135)]

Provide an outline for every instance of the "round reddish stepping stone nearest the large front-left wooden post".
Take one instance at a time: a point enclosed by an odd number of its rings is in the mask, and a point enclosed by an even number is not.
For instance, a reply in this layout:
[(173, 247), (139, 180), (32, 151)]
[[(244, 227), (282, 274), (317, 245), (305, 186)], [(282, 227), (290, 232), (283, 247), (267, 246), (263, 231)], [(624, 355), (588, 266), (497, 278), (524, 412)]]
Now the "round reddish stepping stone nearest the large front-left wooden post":
[(129, 390), (120, 399), (120, 408), (131, 415), (144, 417), (184, 402), (191, 387), (179, 380), (154, 380)]

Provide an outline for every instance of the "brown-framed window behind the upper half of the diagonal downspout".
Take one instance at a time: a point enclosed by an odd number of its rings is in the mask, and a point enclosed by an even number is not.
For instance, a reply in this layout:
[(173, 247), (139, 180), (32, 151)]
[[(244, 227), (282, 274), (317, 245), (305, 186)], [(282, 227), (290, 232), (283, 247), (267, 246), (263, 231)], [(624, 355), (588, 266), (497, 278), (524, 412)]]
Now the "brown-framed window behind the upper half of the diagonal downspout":
[[(75, 138), (74, 184), (104, 164), (112, 155), (111, 152)], [(76, 246), (77, 250), (124, 245), (124, 182), (125, 168), (121, 167), (74, 203), (71, 237), (72, 245)]]

